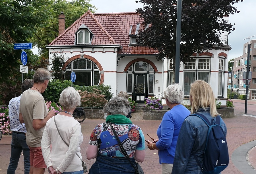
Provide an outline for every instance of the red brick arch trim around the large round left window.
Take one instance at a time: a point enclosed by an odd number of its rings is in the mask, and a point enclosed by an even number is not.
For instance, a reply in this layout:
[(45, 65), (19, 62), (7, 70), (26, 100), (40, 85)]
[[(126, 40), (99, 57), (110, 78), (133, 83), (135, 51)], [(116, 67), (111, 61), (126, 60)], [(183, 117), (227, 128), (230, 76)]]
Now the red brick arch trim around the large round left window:
[(62, 70), (65, 70), (66, 68), (67, 68), (67, 66), (69, 65), (69, 63), (71, 63), (72, 61), (74, 61), (75, 59), (81, 59), (81, 58), (85, 58), (85, 59), (89, 59), (89, 60), (91, 60), (91, 61), (93, 61), (97, 66), (98, 66), (98, 68), (99, 68), (99, 70), (100, 70), (100, 85), (101, 84), (103, 84), (103, 82), (104, 82), (104, 71), (103, 71), (103, 68), (102, 68), (102, 66), (100, 65), (100, 63), (94, 58), (94, 57), (92, 57), (92, 56), (89, 56), (89, 55), (86, 55), (86, 54), (84, 54), (84, 55), (75, 55), (75, 56), (73, 56), (73, 57), (71, 57), (71, 58), (69, 58), (65, 63), (64, 63), (64, 65), (63, 65), (63, 67), (62, 67)]

